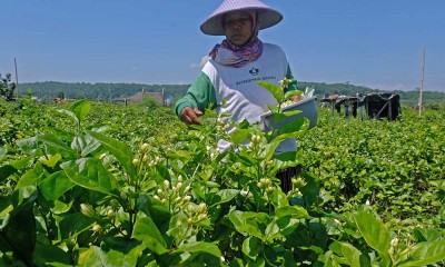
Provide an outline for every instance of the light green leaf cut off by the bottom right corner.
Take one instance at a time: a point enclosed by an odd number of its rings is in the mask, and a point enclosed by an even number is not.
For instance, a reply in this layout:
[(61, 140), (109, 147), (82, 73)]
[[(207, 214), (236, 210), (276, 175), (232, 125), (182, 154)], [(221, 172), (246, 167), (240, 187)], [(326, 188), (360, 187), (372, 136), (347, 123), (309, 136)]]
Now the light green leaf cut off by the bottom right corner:
[(445, 259), (445, 240), (418, 243), (403, 254), (408, 258), (399, 267), (432, 265)]

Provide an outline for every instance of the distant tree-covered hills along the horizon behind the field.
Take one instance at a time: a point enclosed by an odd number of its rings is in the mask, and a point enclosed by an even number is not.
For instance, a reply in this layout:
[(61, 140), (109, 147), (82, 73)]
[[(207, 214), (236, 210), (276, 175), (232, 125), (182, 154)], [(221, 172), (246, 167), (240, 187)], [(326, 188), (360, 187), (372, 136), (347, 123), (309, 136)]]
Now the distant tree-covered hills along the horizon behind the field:
[[(142, 89), (147, 92), (165, 91), (166, 98), (177, 99), (184, 96), (190, 85), (144, 85), (144, 83), (88, 83), (88, 82), (28, 82), (21, 83), (20, 95), (31, 92), (33, 96), (49, 100), (63, 96), (66, 98), (86, 98), (90, 100), (110, 100), (116, 98), (128, 98)], [(315, 93), (323, 98), (324, 95), (345, 95), (355, 96), (356, 93), (378, 92), (383, 90), (372, 89), (350, 83), (325, 83), (305, 82), (298, 83), (299, 89), (314, 87)], [(388, 91), (384, 91), (388, 92)], [(392, 91), (400, 96), (402, 105), (416, 105), (418, 102), (418, 91)], [(424, 103), (445, 103), (445, 92), (424, 91)]]

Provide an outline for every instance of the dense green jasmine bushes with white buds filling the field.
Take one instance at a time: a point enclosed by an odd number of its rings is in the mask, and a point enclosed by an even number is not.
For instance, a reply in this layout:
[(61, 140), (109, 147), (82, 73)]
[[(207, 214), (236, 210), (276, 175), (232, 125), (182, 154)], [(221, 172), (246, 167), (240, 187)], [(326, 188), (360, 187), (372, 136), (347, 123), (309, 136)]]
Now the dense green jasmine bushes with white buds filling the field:
[[(394, 159), (423, 162), (407, 170), (392, 167), (383, 158), (386, 154), (376, 152), (382, 142), (375, 137), (396, 135), (399, 122), (362, 122), (368, 134), (348, 135), (357, 141), (344, 150), (337, 136), (329, 135), (343, 136), (334, 125), (350, 127), (327, 118), (319, 126), (332, 144), (314, 141), (322, 134), (308, 132), (304, 119), (278, 134), (244, 121), (226, 136), (224, 116), (212, 112), (194, 129), (165, 123), (171, 110), (83, 100), (40, 112), (48, 113), (51, 127), (12, 142), (9, 147), (18, 147), (13, 160), (4, 161), (8, 148), (0, 150), (0, 160), (7, 162), (0, 167), (1, 265), (425, 266), (445, 257), (439, 227), (419, 225), (409, 229), (412, 238), (399, 235), (388, 220), (392, 210), (378, 209), (402, 207), (395, 202), (399, 198), (369, 197), (389, 195), (390, 188), (389, 196), (405, 196), (394, 191), (405, 185), (403, 177), (417, 182), (404, 188), (411, 196), (425, 189), (437, 194), (425, 195), (429, 200), (423, 208), (443, 201), (443, 186), (418, 184), (424, 175), (444, 174), (435, 165), (444, 155), (443, 144), (429, 151), (395, 146), (402, 150)], [(416, 140), (432, 138), (427, 144), (433, 145), (444, 132), (443, 125), (437, 127), (417, 131)], [(219, 154), (216, 141), (221, 137), (236, 149)], [(296, 137), (306, 155), (276, 158), (275, 147), (287, 137)], [(305, 171), (285, 195), (275, 174), (297, 162), (305, 164)], [(354, 175), (358, 169), (366, 174)], [(427, 216), (441, 215), (432, 208)]]

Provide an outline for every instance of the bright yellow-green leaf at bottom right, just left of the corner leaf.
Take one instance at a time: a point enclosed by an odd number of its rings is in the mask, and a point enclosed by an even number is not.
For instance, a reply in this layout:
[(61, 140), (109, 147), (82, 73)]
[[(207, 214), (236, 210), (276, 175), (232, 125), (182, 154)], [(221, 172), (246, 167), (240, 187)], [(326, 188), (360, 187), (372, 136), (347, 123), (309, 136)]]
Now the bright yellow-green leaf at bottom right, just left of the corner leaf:
[(384, 224), (365, 211), (357, 211), (353, 217), (366, 243), (389, 261), (390, 237)]

